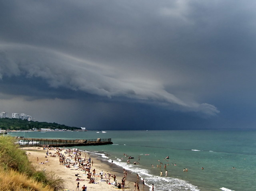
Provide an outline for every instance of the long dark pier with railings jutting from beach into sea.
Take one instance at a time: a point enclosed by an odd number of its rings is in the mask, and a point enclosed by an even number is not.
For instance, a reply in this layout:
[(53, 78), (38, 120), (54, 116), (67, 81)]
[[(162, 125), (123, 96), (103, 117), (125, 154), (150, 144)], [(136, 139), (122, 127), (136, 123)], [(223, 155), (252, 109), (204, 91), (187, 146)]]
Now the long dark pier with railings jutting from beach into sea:
[(109, 139), (74, 139), (74, 140), (64, 140), (64, 139), (42, 139), (42, 138), (15, 138), (17, 144), (20, 147), (34, 147), (48, 145), (52, 147), (73, 147), (73, 146), (92, 146), (92, 145), (106, 145), (113, 144), (111, 138)]

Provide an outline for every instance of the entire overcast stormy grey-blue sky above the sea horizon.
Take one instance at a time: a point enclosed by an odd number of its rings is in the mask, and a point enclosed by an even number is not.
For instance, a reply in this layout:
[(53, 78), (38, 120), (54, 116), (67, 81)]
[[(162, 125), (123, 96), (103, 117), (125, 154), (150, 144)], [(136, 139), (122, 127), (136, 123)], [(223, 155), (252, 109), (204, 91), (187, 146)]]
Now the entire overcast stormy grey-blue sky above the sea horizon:
[(254, 0), (0, 0), (0, 112), (90, 130), (256, 128)]

